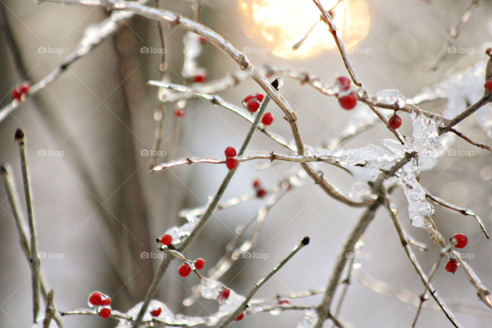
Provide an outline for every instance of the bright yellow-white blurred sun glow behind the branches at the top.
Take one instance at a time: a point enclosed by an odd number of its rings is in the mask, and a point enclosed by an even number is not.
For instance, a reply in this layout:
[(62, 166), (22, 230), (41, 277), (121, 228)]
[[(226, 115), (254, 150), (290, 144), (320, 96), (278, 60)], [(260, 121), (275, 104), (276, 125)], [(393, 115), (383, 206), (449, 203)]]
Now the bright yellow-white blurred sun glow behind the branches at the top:
[[(321, 1), (326, 10), (332, 8), (336, 0)], [(260, 48), (252, 52), (270, 53), (283, 58), (307, 58), (322, 50), (336, 47), (329, 28), (320, 20), (318, 7), (309, 0), (240, 0), (246, 34)], [(369, 10), (365, 0), (345, 0), (334, 10), (333, 23), (345, 48), (356, 47), (367, 35), (370, 26)], [(297, 50), (292, 50), (319, 22)]]

